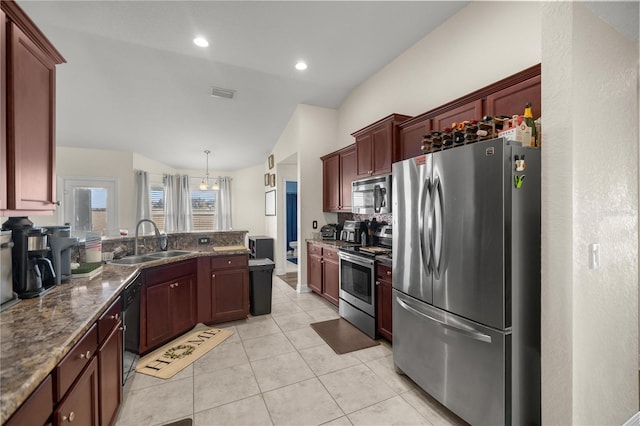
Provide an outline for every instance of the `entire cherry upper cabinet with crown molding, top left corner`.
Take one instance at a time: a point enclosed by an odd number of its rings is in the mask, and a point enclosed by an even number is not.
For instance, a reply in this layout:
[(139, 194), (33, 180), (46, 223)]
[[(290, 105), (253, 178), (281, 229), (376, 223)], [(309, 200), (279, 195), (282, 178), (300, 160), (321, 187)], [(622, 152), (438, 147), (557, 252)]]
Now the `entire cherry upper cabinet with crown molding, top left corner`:
[(13, 0), (0, 7), (0, 215), (52, 212), (55, 66), (65, 60)]

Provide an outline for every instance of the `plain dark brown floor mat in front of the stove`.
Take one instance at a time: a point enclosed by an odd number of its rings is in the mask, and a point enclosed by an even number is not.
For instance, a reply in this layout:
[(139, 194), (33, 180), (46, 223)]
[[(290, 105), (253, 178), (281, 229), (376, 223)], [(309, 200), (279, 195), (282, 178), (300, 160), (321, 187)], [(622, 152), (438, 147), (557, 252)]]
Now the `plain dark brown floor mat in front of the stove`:
[(338, 355), (380, 344), (343, 318), (314, 322), (311, 324), (311, 328), (313, 328)]

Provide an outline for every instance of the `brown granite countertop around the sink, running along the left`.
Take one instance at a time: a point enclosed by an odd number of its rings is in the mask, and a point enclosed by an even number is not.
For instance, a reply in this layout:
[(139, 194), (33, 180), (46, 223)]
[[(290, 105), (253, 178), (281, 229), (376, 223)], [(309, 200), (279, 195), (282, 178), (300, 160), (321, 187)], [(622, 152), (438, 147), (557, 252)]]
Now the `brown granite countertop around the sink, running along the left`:
[(93, 279), (74, 278), (46, 295), (0, 313), (0, 424), (4, 424), (142, 269), (197, 258), (249, 253), (216, 247), (138, 265), (103, 265)]

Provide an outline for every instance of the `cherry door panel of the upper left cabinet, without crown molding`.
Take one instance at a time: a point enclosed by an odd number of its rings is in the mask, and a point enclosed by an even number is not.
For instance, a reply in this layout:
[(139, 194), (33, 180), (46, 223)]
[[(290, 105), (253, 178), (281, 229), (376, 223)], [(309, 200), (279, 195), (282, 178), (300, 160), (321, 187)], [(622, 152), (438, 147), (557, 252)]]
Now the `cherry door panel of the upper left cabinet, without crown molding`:
[(55, 210), (55, 64), (20, 29), (11, 34), (7, 87), (7, 208)]

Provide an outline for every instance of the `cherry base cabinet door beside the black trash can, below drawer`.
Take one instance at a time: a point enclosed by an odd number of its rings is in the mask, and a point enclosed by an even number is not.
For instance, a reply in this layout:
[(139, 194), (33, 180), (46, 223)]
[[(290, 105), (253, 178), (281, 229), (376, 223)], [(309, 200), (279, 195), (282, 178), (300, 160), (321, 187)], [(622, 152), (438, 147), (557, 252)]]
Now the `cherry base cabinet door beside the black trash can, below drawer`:
[(216, 322), (246, 318), (249, 314), (247, 269), (227, 269), (211, 274), (211, 304)]

